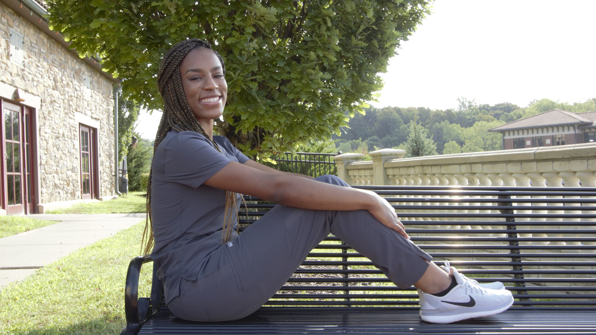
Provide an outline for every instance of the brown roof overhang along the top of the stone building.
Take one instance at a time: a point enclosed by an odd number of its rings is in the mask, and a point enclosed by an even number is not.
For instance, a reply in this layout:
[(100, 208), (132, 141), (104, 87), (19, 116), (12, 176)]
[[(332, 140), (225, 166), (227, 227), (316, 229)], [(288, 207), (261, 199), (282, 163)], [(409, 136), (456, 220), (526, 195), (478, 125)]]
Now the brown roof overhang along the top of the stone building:
[[(17, 12), (18, 15), (21, 15), (27, 21), (33, 23), (34, 26), (41, 29), (46, 35), (55, 39), (55, 41), (63, 45), (64, 48), (69, 49), (70, 52), (79, 57), (79, 53), (75, 49), (69, 48), (70, 42), (64, 41), (64, 36), (60, 32), (49, 29), (48, 20), (44, 17), (44, 15), (48, 14), (48, 12), (37, 2), (33, 0), (23, 0), (22, 2), (18, 0), (0, 0), (0, 2), (10, 7), (13, 11)], [(120, 83), (120, 79), (116, 79), (110, 73), (103, 71), (101, 69), (100, 63), (95, 58), (85, 57), (81, 59), (95, 70), (98, 70), (101, 75), (106, 77), (111, 82)]]

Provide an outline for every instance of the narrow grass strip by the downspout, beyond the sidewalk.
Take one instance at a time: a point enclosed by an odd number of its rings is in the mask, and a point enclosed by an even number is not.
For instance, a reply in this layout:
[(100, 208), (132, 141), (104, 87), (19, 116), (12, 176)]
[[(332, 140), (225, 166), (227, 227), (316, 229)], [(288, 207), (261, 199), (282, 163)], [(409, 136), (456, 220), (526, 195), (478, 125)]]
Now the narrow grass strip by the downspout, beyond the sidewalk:
[(51, 210), (50, 214), (100, 214), (100, 213), (145, 213), (146, 192), (129, 192), (127, 196), (120, 196), (116, 200), (100, 201), (98, 203), (80, 203), (75, 206)]

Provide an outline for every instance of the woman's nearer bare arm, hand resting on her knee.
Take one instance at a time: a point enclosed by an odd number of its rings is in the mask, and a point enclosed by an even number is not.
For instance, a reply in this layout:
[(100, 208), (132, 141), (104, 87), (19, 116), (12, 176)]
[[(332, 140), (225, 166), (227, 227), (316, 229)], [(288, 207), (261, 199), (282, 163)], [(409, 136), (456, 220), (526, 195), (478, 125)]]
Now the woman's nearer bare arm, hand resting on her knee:
[(204, 183), (285, 206), (322, 210), (368, 210), (382, 224), (409, 238), (391, 205), (371, 191), (342, 187), (288, 174), (263, 172), (229, 162)]

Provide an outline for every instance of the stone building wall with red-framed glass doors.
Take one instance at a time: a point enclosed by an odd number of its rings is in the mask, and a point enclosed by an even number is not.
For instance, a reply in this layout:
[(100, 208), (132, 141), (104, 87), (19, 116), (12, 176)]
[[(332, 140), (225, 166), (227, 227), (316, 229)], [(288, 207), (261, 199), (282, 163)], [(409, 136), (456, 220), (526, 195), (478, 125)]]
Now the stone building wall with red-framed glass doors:
[(43, 2), (0, 0), (0, 207), (45, 212), (114, 194), (113, 91), (48, 27)]

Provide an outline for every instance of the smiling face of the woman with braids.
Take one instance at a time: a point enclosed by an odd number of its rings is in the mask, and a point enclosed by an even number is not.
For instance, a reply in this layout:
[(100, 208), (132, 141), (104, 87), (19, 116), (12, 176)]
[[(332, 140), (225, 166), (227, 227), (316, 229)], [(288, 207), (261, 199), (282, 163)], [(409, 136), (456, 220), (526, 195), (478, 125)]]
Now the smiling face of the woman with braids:
[(215, 52), (206, 48), (188, 52), (180, 64), (180, 76), (188, 106), (198, 122), (218, 119), (224, 113), (228, 84)]

